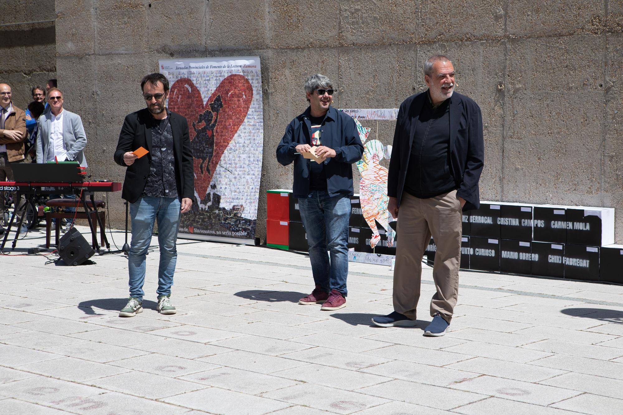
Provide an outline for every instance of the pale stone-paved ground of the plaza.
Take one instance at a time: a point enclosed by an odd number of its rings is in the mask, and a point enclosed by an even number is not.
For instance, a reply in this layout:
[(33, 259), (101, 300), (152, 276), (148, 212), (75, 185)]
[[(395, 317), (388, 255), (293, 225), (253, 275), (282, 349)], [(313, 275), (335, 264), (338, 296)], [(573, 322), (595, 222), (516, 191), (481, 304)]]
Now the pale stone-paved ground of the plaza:
[(154, 238), (145, 310), (120, 318), (123, 255), (16, 255), (42, 243), (0, 257), (0, 414), (623, 413), (621, 286), (461, 272), (452, 332), (429, 338), (429, 267), (417, 326), (379, 328), (389, 267), (351, 263), (347, 306), (323, 312), (297, 304), (307, 256), (180, 239), (164, 316)]

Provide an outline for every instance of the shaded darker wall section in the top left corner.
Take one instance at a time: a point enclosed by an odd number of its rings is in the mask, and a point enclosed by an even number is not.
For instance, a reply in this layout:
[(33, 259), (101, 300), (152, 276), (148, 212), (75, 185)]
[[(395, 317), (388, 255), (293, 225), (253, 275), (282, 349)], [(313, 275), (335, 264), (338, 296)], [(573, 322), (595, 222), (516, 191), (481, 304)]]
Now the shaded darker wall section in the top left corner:
[[(14, 104), (26, 110), (31, 88), (56, 77), (54, 0), (6, 0), (0, 7), (0, 82), (11, 85)], [(40, 21), (50, 22), (24, 24)]]

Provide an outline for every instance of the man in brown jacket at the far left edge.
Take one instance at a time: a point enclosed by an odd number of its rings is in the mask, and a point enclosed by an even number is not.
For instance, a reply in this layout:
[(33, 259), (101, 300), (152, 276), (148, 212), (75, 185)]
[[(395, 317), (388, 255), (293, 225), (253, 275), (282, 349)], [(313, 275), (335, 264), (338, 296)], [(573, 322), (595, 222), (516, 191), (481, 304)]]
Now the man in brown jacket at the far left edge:
[[(24, 161), (24, 141), (26, 135), (26, 114), (21, 109), (13, 105), (11, 100), (11, 87), (6, 83), (0, 83), (0, 181), (13, 180), (14, 163)], [(13, 200), (17, 198), (17, 192), (13, 192)], [(22, 195), (19, 207), (26, 202), (26, 197)], [(17, 202), (16, 206), (17, 206)], [(18, 209), (19, 209), (18, 207)], [(2, 227), (4, 220), (4, 195), (0, 194), (0, 235), (4, 234)], [(28, 231), (26, 225), (22, 225), (20, 233)]]

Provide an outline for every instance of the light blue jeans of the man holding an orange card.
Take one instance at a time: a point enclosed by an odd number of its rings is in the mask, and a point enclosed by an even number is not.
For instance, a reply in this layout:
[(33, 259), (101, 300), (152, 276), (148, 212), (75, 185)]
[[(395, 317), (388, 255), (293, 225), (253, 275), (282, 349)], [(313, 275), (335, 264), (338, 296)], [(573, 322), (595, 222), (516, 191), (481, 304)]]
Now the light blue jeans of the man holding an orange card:
[(145, 196), (130, 203), (132, 241), (128, 262), (130, 269), (130, 297), (143, 298), (145, 284), (145, 255), (151, 244), (154, 222), (158, 221), (158, 245), (160, 265), (158, 267), (158, 296), (170, 295), (173, 285), (175, 263), (178, 259), (176, 240), (179, 224), (178, 198), (152, 198)]

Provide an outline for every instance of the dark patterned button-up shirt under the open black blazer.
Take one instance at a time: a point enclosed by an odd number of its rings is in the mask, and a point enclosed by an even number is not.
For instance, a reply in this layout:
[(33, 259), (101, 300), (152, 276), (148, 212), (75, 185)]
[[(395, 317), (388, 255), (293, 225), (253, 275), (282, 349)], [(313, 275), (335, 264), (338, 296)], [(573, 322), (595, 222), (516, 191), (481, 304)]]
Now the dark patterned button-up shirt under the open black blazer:
[(178, 184), (175, 179), (175, 156), (173, 155), (173, 132), (171, 113), (164, 120), (151, 118), (151, 165), (145, 184), (145, 196), (154, 198), (177, 198)]

